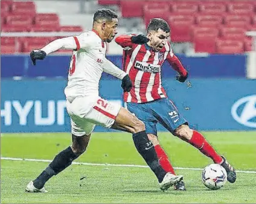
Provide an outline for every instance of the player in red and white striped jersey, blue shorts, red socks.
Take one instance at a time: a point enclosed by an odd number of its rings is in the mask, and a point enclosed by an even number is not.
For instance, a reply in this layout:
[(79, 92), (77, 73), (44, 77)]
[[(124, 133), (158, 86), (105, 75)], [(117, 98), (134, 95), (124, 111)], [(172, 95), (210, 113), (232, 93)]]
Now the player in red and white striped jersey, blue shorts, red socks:
[[(174, 170), (168, 161), (168, 156), (159, 145), (156, 124), (160, 123), (173, 135), (187, 141), (198, 148), (204, 155), (222, 165), (227, 173), (228, 180), (235, 182), (234, 168), (226, 162), (223, 156), (216, 153), (214, 148), (196, 130), (188, 127), (188, 122), (178, 112), (173, 102), (167, 99), (161, 80), (161, 66), (165, 60), (178, 72), (176, 79), (185, 82), (188, 72), (182, 66), (178, 57), (173, 54), (169, 42), (170, 27), (163, 19), (152, 19), (147, 27), (147, 36), (121, 35), (115, 39), (122, 46), (123, 69), (129, 74), (133, 87), (130, 92), (124, 92), (124, 101), (127, 109), (135, 113), (146, 126), (146, 133), (155, 146), (159, 164), (167, 172)], [(176, 190), (185, 190), (184, 182), (174, 185)]]

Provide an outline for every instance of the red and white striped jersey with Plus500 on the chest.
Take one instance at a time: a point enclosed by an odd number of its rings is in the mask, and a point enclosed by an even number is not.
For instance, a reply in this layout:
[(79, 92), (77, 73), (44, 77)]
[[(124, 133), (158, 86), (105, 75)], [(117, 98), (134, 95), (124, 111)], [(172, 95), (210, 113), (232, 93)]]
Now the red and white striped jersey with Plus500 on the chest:
[(170, 43), (166, 43), (160, 51), (154, 51), (149, 45), (132, 43), (131, 36), (122, 35), (115, 39), (124, 49), (123, 69), (129, 74), (133, 87), (124, 92), (124, 101), (146, 103), (167, 97), (162, 88), (161, 67), (167, 60), (182, 75), (187, 71), (174, 56)]

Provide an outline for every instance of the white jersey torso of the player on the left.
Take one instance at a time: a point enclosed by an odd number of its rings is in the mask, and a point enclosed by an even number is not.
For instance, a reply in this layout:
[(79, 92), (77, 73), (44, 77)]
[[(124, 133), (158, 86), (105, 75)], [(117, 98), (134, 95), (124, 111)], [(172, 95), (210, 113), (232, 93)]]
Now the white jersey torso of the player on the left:
[(71, 57), (65, 95), (97, 96), (103, 63), (106, 60), (106, 43), (94, 31), (74, 36), (74, 40), (77, 50)]

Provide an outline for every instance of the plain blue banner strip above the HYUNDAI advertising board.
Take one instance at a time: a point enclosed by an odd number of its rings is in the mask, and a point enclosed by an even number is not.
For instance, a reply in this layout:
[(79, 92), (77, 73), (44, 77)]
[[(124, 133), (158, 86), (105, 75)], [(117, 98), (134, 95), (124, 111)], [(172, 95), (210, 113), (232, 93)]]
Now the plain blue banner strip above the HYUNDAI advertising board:
[[(177, 55), (186, 69), (190, 72), (190, 78), (245, 78), (246, 55), (213, 54), (208, 57), (187, 57), (184, 54)], [(62, 77), (67, 78), (69, 60), (71, 56), (47, 56), (45, 60), (38, 61), (33, 66), (28, 55), (1, 55), (1, 78), (13, 76), (19, 77)], [(107, 56), (119, 68), (122, 67), (121, 56)], [(176, 71), (165, 62), (162, 67), (163, 78), (174, 78)], [(103, 73), (105, 79), (114, 78)]]

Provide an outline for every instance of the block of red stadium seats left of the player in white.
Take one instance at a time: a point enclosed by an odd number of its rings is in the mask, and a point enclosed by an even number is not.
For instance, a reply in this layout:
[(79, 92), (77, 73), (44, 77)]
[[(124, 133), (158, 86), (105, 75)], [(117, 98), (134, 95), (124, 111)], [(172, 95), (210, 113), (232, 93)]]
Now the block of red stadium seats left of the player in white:
[[(37, 13), (33, 1), (1, 1), (2, 32), (83, 31), (80, 26), (60, 26), (56, 13)], [(27, 53), (56, 37), (1, 37), (1, 53)], [(63, 50), (62, 50), (63, 52)], [(70, 51), (69, 51), (70, 53)]]

